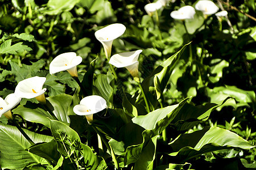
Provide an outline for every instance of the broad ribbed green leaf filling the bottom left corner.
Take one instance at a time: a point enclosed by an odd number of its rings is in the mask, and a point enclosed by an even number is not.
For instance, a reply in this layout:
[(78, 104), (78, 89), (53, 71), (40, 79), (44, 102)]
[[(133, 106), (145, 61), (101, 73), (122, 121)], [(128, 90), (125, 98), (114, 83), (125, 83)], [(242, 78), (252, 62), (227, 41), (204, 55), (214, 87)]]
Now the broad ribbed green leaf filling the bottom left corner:
[[(49, 142), (53, 139), (26, 129), (24, 131), (35, 143)], [(16, 127), (0, 123), (1, 168), (23, 169), (26, 166), (48, 164), (45, 159), (26, 151), (30, 146), (31, 144)]]

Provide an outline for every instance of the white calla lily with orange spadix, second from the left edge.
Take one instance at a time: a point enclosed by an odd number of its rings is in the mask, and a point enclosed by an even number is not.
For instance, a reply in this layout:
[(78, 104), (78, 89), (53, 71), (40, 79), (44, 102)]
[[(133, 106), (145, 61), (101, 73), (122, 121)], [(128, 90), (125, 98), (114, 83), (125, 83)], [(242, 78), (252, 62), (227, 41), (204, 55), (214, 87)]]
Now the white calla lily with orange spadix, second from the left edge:
[(46, 97), (44, 97), (46, 88), (43, 88), (44, 82), (46, 82), (46, 78), (40, 76), (24, 79), (18, 83), (14, 94), (20, 98), (26, 99), (35, 97), (40, 103), (46, 104)]

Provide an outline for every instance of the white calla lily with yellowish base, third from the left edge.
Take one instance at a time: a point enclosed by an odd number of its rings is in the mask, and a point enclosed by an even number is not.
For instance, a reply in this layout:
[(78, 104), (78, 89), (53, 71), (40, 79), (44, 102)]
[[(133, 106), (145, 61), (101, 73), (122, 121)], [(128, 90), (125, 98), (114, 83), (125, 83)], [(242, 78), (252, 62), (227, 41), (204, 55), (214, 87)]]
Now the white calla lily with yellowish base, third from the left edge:
[(78, 76), (76, 66), (82, 62), (82, 57), (76, 53), (63, 53), (55, 57), (49, 65), (49, 73), (55, 74), (67, 70), (71, 76)]

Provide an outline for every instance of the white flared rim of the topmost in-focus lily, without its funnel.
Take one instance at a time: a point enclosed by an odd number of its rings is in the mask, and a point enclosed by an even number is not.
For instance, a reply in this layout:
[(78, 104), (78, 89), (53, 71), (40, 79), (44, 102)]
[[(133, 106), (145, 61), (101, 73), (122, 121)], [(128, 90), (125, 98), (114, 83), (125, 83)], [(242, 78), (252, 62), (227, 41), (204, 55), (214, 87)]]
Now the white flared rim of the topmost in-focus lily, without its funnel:
[(104, 28), (99, 29), (95, 32), (95, 37), (98, 41), (107, 42), (117, 39), (125, 32), (125, 25), (115, 23), (110, 24)]

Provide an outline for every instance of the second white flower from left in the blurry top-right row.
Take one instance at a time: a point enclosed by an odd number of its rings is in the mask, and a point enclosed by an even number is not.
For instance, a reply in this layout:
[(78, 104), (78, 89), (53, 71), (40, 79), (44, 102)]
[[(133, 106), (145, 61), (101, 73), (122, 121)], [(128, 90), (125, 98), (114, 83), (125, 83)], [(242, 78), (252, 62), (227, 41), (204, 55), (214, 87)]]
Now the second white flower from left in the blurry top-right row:
[(195, 8), (187, 5), (179, 8), (179, 10), (177, 11), (172, 11), (171, 17), (174, 19), (180, 19), (180, 20), (193, 19), (195, 14), (196, 14)]

